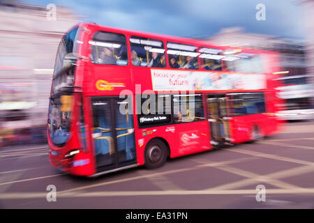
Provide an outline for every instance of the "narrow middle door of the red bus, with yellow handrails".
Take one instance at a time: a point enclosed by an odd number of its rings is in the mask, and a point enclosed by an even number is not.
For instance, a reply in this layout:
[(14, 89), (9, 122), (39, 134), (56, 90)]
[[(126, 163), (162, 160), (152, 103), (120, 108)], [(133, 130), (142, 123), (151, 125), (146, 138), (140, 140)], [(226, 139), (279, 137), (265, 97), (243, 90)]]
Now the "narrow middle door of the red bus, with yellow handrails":
[(207, 95), (207, 113), (211, 130), (211, 144), (219, 147), (230, 140), (226, 95)]

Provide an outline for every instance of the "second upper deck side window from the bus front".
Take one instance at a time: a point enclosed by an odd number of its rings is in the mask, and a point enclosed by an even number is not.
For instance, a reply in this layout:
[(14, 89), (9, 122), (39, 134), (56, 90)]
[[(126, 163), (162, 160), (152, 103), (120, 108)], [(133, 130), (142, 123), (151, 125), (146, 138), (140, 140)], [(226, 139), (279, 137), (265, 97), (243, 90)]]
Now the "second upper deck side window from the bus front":
[(131, 59), (134, 66), (165, 68), (163, 41), (137, 36), (130, 37)]

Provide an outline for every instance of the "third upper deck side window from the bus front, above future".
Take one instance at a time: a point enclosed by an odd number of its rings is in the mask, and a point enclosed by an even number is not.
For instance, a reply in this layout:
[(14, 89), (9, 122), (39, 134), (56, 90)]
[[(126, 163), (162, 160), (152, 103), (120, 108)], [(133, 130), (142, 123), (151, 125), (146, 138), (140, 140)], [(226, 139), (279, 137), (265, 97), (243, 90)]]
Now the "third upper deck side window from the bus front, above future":
[(170, 67), (181, 69), (198, 69), (196, 47), (181, 43), (167, 43)]

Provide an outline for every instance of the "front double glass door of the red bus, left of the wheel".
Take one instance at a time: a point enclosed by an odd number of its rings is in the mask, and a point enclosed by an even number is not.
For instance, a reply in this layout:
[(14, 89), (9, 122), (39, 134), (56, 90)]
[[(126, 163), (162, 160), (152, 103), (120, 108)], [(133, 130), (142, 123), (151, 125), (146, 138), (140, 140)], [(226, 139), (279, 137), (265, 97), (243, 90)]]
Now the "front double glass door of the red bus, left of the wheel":
[(136, 162), (133, 114), (129, 114), (132, 105), (128, 104), (119, 98), (91, 98), (92, 138), (98, 173)]

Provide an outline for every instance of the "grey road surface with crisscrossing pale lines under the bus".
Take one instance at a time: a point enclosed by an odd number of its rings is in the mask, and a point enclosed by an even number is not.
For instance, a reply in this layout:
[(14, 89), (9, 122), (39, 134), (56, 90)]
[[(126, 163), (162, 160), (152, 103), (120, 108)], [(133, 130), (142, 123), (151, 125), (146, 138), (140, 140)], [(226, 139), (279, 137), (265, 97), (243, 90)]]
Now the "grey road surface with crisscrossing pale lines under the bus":
[[(285, 123), (273, 137), (159, 169), (98, 178), (61, 173), (47, 151), (0, 148), (0, 208), (314, 208), (314, 121)], [(56, 201), (47, 201), (48, 185)]]

